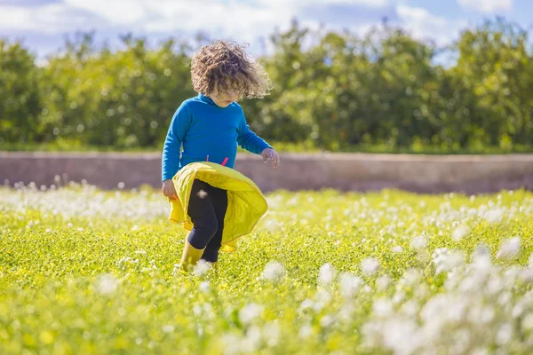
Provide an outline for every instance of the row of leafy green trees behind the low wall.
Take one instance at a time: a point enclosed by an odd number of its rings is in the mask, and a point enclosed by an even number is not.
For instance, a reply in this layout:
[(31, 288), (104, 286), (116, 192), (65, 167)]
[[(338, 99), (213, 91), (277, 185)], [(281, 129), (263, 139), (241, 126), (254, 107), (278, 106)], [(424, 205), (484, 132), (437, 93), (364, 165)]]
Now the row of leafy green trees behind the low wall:
[[(268, 40), (274, 50), (259, 60), (274, 89), (242, 105), (270, 141), (333, 151), (532, 146), (529, 32), (506, 20), (465, 29), (445, 49), (386, 24), (356, 36), (294, 21)], [(190, 59), (208, 40), (121, 41), (112, 50), (80, 34), (38, 64), (23, 43), (0, 39), (0, 144), (161, 146), (172, 114), (195, 95)], [(442, 51), (456, 58), (439, 64)]]

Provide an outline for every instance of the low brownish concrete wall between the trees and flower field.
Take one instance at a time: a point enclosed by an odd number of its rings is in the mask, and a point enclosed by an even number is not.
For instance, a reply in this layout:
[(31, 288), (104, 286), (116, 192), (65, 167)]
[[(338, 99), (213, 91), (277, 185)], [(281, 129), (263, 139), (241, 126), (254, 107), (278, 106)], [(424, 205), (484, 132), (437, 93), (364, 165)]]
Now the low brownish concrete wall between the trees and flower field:
[[(489, 193), (521, 186), (533, 189), (533, 154), (281, 154), (273, 170), (262, 158), (240, 154), (235, 169), (264, 191), (325, 187), (378, 190), (395, 187), (418, 193)], [(159, 154), (0, 153), (0, 184), (52, 185), (56, 175), (91, 185), (126, 188), (161, 186)]]

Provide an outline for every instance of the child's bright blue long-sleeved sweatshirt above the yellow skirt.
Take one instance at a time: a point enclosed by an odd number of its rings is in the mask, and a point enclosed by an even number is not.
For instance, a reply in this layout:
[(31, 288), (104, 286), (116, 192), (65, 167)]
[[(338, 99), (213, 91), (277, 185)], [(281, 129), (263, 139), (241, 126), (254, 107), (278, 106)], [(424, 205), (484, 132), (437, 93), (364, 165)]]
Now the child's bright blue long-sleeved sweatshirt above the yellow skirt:
[[(167, 180), (191, 162), (217, 162), (234, 168), (237, 143), (251, 153), (271, 148), (250, 130), (243, 108), (236, 102), (217, 106), (199, 94), (183, 101), (172, 117), (163, 146), (162, 178)], [(180, 147), (183, 145), (183, 152)]]

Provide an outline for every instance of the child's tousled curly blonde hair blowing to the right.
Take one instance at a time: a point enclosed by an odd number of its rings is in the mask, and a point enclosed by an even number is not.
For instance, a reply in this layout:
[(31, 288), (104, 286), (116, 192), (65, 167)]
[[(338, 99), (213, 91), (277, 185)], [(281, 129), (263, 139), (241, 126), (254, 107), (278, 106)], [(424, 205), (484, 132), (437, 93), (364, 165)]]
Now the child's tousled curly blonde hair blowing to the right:
[(219, 92), (236, 89), (241, 98), (264, 98), (272, 89), (270, 79), (244, 46), (216, 41), (204, 45), (193, 56), (191, 78), (196, 92), (209, 95), (215, 85)]

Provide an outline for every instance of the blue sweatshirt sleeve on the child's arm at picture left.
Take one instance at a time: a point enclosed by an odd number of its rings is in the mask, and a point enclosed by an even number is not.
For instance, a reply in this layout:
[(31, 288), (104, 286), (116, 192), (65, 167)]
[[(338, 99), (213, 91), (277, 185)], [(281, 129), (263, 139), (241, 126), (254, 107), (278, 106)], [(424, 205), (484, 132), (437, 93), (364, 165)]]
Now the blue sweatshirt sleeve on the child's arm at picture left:
[(181, 154), (181, 144), (185, 140), (187, 130), (192, 121), (192, 114), (186, 102), (176, 110), (172, 117), (171, 125), (167, 132), (163, 146), (162, 157), (162, 181), (168, 180), (179, 170), (179, 156)]

